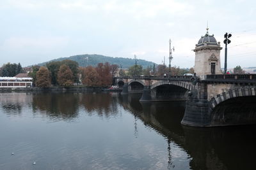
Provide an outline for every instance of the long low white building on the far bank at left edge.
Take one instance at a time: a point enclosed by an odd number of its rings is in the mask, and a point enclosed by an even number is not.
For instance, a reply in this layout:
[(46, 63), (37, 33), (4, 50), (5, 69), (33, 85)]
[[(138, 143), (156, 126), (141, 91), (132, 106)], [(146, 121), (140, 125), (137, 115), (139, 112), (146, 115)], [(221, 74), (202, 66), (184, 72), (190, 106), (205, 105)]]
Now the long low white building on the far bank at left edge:
[(0, 77), (0, 88), (32, 87), (33, 78)]

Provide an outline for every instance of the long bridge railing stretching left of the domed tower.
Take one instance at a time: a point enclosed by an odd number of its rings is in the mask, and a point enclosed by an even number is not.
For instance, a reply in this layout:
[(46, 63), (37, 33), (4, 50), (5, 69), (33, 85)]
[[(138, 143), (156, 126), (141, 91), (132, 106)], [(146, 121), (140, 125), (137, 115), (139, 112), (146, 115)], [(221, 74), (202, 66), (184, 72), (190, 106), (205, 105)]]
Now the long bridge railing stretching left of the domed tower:
[(118, 76), (119, 79), (181, 80), (190, 81), (192, 76)]

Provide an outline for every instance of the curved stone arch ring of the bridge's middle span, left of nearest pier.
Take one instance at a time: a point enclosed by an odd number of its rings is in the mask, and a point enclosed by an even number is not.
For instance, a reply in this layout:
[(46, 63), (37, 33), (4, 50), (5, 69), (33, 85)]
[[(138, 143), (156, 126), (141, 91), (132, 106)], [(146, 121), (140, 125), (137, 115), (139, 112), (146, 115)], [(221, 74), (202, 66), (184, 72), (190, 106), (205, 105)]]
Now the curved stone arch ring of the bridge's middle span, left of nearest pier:
[(179, 87), (183, 87), (184, 89), (187, 90), (192, 90), (193, 85), (190, 82), (187, 81), (168, 81), (168, 80), (161, 80), (161, 81), (156, 81), (156, 83), (153, 83), (150, 87), (150, 89), (154, 89), (156, 87), (159, 87), (161, 85), (176, 85)]

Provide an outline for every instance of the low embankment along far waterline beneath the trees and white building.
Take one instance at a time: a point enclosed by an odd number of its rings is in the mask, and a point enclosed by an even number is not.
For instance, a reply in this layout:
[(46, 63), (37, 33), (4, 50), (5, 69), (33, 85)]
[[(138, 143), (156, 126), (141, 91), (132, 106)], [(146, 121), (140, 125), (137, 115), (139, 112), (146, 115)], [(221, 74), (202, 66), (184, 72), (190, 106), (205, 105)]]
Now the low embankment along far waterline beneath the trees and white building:
[(104, 92), (118, 92), (118, 89), (115, 90), (108, 90), (104, 87), (26, 87), (26, 88), (12, 88), (12, 87), (4, 87), (4, 88), (0, 88), (0, 92), (29, 92), (29, 91), (35, 91), (35, 92), (42, 92), (42, 91), (52, 91), (52, 92), (56, 92), (56, 91), (104, 91)]

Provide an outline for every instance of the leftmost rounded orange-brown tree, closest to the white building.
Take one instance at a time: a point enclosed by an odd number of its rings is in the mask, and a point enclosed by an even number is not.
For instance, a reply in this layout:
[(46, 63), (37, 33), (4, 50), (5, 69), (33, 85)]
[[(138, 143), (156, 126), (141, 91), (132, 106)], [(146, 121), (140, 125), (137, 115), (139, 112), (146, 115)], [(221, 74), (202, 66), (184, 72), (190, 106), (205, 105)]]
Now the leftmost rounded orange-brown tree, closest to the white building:
[(36, 86), (37, 87), (50, 87), (51, 78), (47, 67), (40, 67), (36, 72)]

